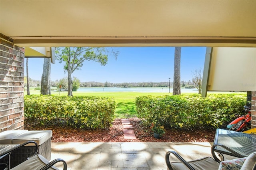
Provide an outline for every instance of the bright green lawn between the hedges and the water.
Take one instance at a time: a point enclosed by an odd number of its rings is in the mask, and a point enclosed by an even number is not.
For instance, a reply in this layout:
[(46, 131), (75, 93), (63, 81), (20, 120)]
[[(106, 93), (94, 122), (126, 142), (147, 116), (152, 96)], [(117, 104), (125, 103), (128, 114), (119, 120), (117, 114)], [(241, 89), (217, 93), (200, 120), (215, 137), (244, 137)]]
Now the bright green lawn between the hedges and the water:
[[(67, 91), (58, 92), (52, 91), (52, 95), (68, 95)], [(111, 97), (114, 98), (117, 104), (115, 117), (116, 118), (130, 118), (136, 117), (136, 105), (135, 100), (136, 97), (152, 95), (152, 96), (160, 96), (160, 95), (172, 95), (172, 93), (143, 93), (143, 92), (72, 92), (73, 96), (96, 96), (96, 97)], [(216, 93), (216, 92), (215, 92)], [(220, 92), (225, 93), (225, 92)], [(230, 92), (226, 92), (230, 93)], [(32, 87), (30, 89), (31, 95), (40, 95), (40, 90), (34, 90)], [(182, 93), (184, 94), (184, 93)], [(190, 93), (192, 94), (192, 93)], [(25, 92), (26, 95), (26, 92)]]

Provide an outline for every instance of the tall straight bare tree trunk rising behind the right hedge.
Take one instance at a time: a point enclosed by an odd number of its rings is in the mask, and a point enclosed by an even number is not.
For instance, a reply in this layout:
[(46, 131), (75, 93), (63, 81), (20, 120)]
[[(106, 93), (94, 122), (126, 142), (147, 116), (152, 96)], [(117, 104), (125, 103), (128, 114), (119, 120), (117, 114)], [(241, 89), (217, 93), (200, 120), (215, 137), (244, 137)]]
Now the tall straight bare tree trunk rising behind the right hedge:
[(175, 47), (172, 95), (180, 95), (180, 54), (181, 47)]

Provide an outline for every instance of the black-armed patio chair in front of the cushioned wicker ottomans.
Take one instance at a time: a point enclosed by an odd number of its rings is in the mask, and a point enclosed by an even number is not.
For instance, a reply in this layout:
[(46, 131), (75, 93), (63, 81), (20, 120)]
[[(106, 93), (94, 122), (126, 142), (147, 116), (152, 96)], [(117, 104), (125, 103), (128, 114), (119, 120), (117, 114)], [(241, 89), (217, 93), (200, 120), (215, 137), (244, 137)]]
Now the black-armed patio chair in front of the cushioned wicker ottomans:
[[(20, 154), (17, 152), (21, 147), (26, 148), (26, 145), (31, 146), (33, 144), (34, 150), (28, 150), (24, 156), (24, 153)], [(24, 148), (22, 152), (24, 152)], [(31, 148), (31, 147), (28, 147)], [(0, 170), (58, 170), (58, 168), (54, 167), (54, 164), (57, 162), (63, 163), (63, 170), (67, 170), (67, 163), (63, 159), (55, 159), (49, 162), (46, 158), (38, 153), (38, 144), (34, 141), (24, 142), (18, 146), (11, 148), (0, 154)], [(12, 164), (12, 162), (17, 162), (13, 160), (12, 154), (21, 155), (20, 157), (15, 156), (15, 158), (19, 159), (19, 164)]]

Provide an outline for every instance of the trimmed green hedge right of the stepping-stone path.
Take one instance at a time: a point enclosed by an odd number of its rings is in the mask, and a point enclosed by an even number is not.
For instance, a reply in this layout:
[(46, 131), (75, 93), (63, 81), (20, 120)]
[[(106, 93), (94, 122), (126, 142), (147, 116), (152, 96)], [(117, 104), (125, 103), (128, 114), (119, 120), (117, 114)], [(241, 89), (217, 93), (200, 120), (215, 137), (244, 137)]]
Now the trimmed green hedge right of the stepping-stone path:
[(138, 117), (149, 126), (158, 121), (166, 128), (218, 128), (227, 125), (236, 113), (243, 113), (246, 95), (198, 94), (141, 96), (136, 98)]

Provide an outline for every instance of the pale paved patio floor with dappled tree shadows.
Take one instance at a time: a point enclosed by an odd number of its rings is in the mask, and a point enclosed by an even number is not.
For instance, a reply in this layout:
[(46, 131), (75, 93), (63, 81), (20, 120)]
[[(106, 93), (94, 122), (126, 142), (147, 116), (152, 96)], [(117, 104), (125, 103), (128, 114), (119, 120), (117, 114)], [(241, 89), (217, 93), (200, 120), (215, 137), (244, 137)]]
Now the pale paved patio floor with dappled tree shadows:
[[(52, 143), (52, 160), (64, 159), (68, 170), (166, 170), (167, 151), (192, 160), (211, 156), (211, 146), (211, 142), (62, 142)], [(59, 162), (57, 167), (63, 166)]]

